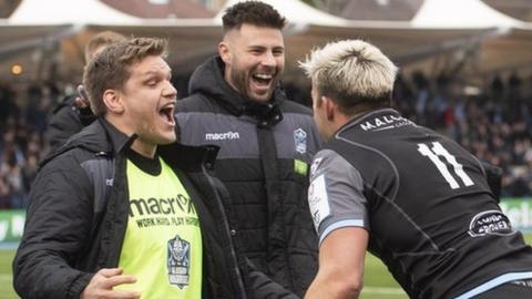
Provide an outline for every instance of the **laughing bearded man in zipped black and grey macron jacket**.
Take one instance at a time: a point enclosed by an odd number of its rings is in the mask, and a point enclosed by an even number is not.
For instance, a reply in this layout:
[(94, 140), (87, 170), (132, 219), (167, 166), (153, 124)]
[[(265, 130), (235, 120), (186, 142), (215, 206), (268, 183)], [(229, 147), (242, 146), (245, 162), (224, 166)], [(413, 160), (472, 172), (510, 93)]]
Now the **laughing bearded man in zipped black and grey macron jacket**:
[(320, 144), (311, 111), (286, 99), (285, 19), (259, 1), (223, 17), (218, 55), (198, 66), (177, 101), (185, 144), (221, 147), (212, 171), (236, 247), (287, 289), (303, 295), (317, 271), (317, 237), (306, 203), (309, 163)]

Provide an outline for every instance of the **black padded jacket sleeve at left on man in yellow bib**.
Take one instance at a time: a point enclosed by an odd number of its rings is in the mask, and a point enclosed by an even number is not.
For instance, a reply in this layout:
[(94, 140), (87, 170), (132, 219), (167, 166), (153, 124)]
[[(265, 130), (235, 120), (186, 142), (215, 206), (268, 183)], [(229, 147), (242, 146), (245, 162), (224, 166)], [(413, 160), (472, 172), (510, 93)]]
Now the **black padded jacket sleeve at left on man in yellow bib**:
[(60, 156), (41, 168), (13, 260), (13, 285), (22, 298), (80, 298), (93, 276), (74, 268), (88, 243), (91, 193), (73, 157)]

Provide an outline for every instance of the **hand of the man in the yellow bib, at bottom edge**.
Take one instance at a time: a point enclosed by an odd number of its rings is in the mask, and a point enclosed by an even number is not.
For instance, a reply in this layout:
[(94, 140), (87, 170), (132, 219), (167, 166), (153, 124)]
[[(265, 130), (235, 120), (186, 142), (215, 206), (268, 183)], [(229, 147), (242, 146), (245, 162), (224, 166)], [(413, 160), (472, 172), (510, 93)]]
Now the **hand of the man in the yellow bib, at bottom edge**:
[(113, 287), (124, 283), (135, 283), (136, 278), (131, 275), (122, 275), (122, 268), (101, 269), (89, 281), (82, 299), (139, 299), (141, 293), (137, 291), (115, 291)]

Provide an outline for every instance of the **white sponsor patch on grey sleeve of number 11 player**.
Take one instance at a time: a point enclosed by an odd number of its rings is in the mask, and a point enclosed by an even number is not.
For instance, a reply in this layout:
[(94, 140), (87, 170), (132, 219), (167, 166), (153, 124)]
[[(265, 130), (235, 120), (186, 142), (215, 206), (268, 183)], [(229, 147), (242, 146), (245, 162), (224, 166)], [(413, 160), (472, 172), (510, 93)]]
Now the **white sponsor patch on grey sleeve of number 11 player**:
[(325, 176), (320, 175), (313, 179), (308, 187), (308, 205), (313, 216), (316, 230), (319, 229), (321, 221), (330, 215), (329, 197), (325, 185)]

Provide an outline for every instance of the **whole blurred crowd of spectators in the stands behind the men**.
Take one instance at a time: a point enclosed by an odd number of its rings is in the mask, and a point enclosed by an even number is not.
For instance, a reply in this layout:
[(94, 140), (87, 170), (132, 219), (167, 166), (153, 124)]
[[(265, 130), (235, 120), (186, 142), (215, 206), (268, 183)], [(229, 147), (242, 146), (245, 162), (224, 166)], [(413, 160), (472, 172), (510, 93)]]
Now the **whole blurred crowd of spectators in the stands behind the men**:
[[(186, 79), (176, 82), (186, 90)], [(287, 84), (287, 94), (309, 105), (309, 91)], [(23, 208), (48, 154), (44, 137), (53, 109), (71, 93), (68, 84), (17, 87), (0, 84), (0, 209)], [(180, 97), (185, 96), (181, 93)], [(418, 124), (434, 128), (468, 148), (479, 159), (503, 169), (502, 196), (532, 196), (532, 80), (495, 75), (484, 89), (460, 80), (421, 72), (399, 75), (397, 109)]]

